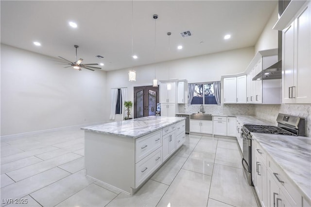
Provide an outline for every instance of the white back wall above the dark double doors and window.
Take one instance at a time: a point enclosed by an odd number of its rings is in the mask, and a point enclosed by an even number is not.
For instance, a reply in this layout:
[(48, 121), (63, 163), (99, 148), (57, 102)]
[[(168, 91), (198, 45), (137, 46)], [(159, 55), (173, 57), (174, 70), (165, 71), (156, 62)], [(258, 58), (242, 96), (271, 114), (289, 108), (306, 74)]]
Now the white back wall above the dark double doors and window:
[[(156, 63), (134, 68), (137, 81), (128, 81), (128, 70), (121, 69), (107, 72), (107, 94), (115, 87), (127, 87), (128, 97), (134, 100), (134, 86), (151, 86), (154, 77), (158, 80), (187, 79), (188, 83), (220, 81), (221, 75), (243, 72), (254, 57), (254, 47), (206, 54), (191, 58)], [(156, 72), (155, 72), (156, 71)], [(116, 81), (118, 80), (118, 81)], [(106, 114), (110, 113), (110, 97), (107, 97)], [(107, 117), (108, 118), (108, 117)]]

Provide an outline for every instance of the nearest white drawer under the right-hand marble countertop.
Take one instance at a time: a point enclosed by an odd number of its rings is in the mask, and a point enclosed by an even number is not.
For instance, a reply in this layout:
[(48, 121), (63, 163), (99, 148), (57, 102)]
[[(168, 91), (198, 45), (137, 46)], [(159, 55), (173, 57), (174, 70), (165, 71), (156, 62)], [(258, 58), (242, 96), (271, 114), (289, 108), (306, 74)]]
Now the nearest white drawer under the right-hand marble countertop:
[(275, 180), (276, 184), (283, 191), (284, 196), (288, 199), (291, 206), (301, 206), (301, 195), (294, 187), (285, 172), (270, 158), (267, 157), (268, 172)]

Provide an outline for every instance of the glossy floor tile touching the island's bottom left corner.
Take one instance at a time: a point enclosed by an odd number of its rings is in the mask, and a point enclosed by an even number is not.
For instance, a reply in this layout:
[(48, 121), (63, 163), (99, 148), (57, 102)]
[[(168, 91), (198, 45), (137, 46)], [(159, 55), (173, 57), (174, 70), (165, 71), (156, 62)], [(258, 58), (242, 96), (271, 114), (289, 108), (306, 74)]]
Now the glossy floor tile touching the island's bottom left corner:
[(47, 187), (37, 190), (30, 195), (42, 206), (51, 207), (68, 199), (93, 182), (94, 180), (86, 177), (85, 171), (79, 171), (78, 173), (71, 174)]

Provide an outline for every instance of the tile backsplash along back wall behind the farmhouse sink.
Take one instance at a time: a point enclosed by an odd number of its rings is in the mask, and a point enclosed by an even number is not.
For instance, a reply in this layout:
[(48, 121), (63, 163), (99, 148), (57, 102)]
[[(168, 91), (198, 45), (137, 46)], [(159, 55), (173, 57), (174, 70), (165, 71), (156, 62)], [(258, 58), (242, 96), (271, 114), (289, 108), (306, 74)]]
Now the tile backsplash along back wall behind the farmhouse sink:
[[(200, 105), (178, 104), (179, 113), (198, 113)], [(212, 115), (255, 115), (255, 106), (253, 104), (222, 104), (222, 105), (204, 105), (204, 111)]]

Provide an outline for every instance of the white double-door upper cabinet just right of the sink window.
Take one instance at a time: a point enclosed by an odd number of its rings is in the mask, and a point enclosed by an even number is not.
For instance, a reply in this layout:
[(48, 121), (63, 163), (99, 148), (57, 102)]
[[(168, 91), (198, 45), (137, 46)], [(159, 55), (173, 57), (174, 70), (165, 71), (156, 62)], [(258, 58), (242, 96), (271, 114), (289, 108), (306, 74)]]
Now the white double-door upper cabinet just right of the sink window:
[(224, 103), (246, 103), (246, 75), (224, 78)]

